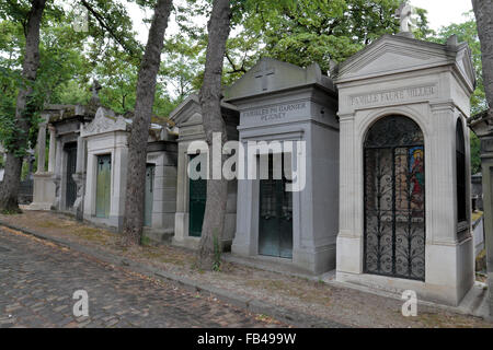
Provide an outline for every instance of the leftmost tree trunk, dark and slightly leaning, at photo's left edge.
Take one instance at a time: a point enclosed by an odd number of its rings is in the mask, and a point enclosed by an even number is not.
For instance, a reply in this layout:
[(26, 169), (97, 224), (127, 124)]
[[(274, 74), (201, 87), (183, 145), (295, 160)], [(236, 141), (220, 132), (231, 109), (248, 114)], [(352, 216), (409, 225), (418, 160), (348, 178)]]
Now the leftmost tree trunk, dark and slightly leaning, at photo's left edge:
[(33, 0), (25, 26), (25, 54), (22, 66), (23, 85), (19, 90), (15, 105), (15, 129), (12, 140), (5, 145), (7, 162), (3, 182), (0, 184), (0, 211), (19, 212), (18, 194), (21, 170), (31, 129), (32, 108), (28, 108), (33, 83), (39, 67), (39, 26), (46, 0)]

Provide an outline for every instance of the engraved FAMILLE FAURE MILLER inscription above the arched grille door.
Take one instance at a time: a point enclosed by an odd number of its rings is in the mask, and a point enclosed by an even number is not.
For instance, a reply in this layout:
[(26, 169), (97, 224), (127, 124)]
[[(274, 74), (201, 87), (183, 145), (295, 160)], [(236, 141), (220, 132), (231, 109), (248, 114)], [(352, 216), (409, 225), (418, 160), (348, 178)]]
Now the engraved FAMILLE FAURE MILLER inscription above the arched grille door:
[(406, 100), (415, 100), (436, 95), (435, 85), (403, 88), (390, 91), (372, 92), (368, 94), (349, 96), (352, 106), (366, 106), (371, 104), (397, 103)]

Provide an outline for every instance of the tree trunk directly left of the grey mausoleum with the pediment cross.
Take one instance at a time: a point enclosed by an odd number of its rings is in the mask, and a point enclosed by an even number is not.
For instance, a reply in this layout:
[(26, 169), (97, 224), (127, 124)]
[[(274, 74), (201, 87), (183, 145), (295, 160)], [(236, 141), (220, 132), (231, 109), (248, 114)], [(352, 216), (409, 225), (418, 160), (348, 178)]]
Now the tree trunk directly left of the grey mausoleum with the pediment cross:
[[(213, 133), (221, 132), (222, 144), (227, 141), (226, 122), (221, 115), (221, 77), (222, 62), (226, 52), (226, 40), (230, 32), (231, 9), (229, 0), (214, 0), (213, 13), (208, 28), (208, 44), (204, 83), (200, 90), (200, 107), (204, 119), (206, 141), (211, 150)], [(211, 155), (211, 154), (210, 154)], [(219, 156), (215, 154), (215, 156)], [(209, 156), (209, 174), (213, 173), (213, 159)], [(221, 164), (222, 166), (222, 164)], [(209, 176), (210, 177), (210, 176)], [(225, 228), (226, 202), (228, 200), (228, 180), (207, 180), (207, 201), (202, 228), (202, 238), (198, 248), (198, 266), (203, 269), (213, 269), (215, 262), (215, 249), (220, 246)]]

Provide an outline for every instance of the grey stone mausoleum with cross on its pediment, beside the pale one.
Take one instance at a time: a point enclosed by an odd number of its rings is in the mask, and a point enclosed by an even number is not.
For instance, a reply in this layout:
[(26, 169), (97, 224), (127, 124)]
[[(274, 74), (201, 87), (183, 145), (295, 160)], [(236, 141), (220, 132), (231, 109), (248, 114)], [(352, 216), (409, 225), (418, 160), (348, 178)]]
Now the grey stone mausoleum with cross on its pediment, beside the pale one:
[[(333, 269), (339, 124), (332, 80), (317, 63), (303, 69), (263, 58), (226, 91), (226, 101), (240, 110), (238, 130), (243, 148), (252, 141), (270, 145), (259, 150), (253, 160), (260, 172), (261, 160), (266, 158), (268, 178), (238, 180), (232, 253), (277, 259), (310, 273)], [(293, 149), (275, 148), (273, 141), (279, 145), (293, 141)], [(276, 155), (288, 163), (279, 178), (273, 174)], [(248, 164), (248, 152), (244, 158)], [(300, 174), (300, 167), (306, 174)], [(287, 190), (294, 180), (302, 182), (300, 190)]]

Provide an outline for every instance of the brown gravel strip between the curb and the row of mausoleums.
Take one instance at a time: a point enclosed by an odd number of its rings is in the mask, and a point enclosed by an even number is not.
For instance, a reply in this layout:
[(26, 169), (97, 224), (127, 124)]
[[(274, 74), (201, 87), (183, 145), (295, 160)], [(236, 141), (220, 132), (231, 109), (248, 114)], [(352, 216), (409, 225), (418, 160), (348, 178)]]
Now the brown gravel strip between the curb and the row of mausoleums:
[(222, 264), (220, 272), (200, 271), (194, 267), (193, 252), (169, 245), (126, 248), (121, 245), (118, 234), (59, 213), (31, 211), (0, 215), (0, 220), (352, 327), (493, 327), (478, 317), (422, 305), (416, 317), (404, 317), (399, 300), (237, 264)]

